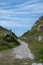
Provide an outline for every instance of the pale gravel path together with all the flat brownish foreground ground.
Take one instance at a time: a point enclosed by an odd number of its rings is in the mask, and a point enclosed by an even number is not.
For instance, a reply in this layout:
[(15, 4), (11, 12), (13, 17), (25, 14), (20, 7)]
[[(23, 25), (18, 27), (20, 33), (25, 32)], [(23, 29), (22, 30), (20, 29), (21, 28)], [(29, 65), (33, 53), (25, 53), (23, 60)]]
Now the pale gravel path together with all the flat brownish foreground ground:
[(28, 48), (28, 44), (19, 39), (18, 41), (20, 46), (0, 51), (0, 65), (43, 65), (42, 63), (33, 63), (34, 56)]

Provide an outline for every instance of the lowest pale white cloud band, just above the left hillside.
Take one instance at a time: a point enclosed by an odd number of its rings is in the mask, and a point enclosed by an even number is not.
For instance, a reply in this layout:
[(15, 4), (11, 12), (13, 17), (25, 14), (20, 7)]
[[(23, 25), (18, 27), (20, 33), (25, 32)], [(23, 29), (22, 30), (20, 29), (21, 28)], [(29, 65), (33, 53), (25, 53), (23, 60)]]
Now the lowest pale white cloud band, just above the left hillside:
[(15, 23), (15, 22), (12, 22), (12, 21), (1, 21), (0, 22), (0, 25), (1, 26), (5, 26), (5, 27), (8, 27), (8, 26), (12, 26), (12, 27), (29, 27), (28, 24), (21, 24), (21, 23)]

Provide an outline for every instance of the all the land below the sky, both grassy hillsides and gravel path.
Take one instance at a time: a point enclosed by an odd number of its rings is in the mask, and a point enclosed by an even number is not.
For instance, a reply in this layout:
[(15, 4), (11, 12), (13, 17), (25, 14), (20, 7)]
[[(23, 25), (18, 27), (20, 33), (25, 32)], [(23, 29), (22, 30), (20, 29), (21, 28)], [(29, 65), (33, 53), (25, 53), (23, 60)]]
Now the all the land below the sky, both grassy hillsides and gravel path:
[(43, 16), (20, 39), (0, 26), (0, 65), (43, 65)]

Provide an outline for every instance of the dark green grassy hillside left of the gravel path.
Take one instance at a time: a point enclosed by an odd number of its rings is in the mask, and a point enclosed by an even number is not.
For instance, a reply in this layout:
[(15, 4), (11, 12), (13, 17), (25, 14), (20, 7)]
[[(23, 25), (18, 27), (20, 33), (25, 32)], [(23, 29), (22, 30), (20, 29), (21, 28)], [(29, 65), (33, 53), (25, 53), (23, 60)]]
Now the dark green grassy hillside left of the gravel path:
[(18, 37), (11, 31), (0, 26), (0, 50), (6, 50), (19, 45)]

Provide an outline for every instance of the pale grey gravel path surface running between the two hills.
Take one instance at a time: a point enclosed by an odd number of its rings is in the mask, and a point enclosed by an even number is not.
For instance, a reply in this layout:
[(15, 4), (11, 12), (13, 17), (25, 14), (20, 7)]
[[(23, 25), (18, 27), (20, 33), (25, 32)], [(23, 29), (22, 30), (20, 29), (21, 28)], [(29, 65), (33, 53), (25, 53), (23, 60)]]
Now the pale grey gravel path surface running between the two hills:
[(28, 48), (28, 44), (21, 41), (21, 40), (18, 40), (19, 43), (20, 43), (20, 46), (14, 48), (12, 50), (12, 53), (15, 53), (16, 54), (16, 58), (31, 58), (33, 59), (33, 54), (31, 53), (30, 49)]

